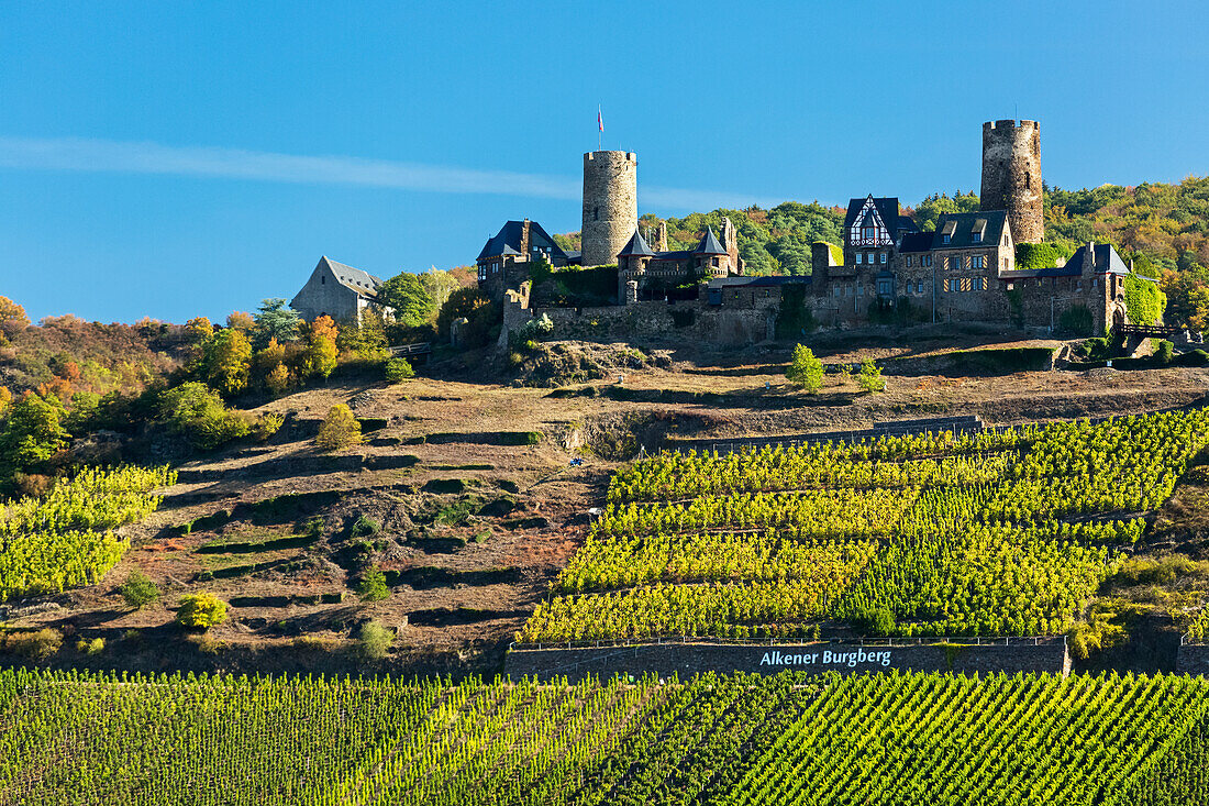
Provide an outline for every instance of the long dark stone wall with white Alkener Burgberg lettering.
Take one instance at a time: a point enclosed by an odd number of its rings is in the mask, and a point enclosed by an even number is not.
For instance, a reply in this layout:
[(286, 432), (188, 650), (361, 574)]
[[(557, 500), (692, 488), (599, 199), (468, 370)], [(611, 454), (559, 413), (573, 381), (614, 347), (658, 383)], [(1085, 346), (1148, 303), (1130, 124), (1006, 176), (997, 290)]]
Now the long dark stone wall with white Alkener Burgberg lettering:
[[(955, 639), (977, 640), (977, 639)], [(991, 643), (996, 640), (997, 643)], [(782, 669), (802, 672), (993, 672), (1070, 673), (1070, 655), (1064, 638), (983, 639), (980, 644), (895, 641), (887, 644), (618, 644), (584, 647), (513, 647), (504, 670), (522, 675), (579, 680), (588, 675), (640, 677), (654, 673), (688, 678), (704, 672), (730, 674), (757, 672), (775, 674)]]

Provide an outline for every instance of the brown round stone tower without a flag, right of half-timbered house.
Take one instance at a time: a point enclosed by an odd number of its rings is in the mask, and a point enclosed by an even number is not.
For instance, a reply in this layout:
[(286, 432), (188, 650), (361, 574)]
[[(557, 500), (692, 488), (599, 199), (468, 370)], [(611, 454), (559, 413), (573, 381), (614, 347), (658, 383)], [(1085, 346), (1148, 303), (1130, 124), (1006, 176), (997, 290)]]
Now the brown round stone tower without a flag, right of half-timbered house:
[(983, 211), (1006, 209), (1017, 243), (1041, 243), (1041, 126), (1035, 120), (983, 123)]

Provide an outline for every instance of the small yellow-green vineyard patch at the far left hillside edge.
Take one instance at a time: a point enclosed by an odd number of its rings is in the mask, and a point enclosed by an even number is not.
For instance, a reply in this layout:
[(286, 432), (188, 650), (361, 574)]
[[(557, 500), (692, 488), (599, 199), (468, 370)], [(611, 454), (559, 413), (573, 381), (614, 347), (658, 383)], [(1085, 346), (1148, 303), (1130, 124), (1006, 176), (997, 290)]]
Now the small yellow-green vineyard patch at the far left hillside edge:
[(155, 512), (155, 490), (175, 484), (167, 467), (87, 468), (41, 499), (0, 511), (0, 601), (93, 585), (129, 542), (114, 530)]

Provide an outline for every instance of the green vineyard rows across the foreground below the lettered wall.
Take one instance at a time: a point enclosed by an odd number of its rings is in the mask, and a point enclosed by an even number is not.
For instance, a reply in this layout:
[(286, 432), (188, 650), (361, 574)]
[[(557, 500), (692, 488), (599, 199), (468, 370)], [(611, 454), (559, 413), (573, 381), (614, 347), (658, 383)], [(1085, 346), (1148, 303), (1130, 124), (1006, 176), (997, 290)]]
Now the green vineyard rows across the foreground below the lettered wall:
[(0, 672), (0, 804), (1203, 804), (1209, 681)]

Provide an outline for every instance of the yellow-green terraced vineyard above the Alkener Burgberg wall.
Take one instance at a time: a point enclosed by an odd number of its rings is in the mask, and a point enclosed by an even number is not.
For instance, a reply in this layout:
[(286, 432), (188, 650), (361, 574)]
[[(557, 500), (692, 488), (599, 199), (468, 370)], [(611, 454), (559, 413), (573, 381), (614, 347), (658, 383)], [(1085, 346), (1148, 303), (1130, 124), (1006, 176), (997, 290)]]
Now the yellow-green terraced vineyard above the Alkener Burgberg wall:
[(663, 454), (617, 473), (517, 640), (1063, 633), (1207, 443), (1199, 409)]

